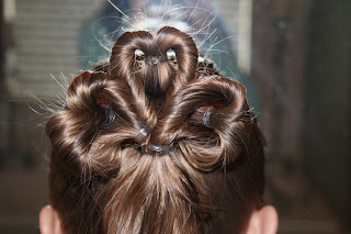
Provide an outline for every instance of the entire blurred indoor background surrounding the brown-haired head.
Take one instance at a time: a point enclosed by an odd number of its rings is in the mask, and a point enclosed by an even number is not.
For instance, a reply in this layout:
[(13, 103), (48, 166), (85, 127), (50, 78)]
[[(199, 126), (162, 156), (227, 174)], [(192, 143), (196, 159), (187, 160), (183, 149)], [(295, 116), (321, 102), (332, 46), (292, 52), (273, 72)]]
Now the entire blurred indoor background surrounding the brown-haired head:
[[(128, 9), (172, 9), (165, 19), (190, 25), (202, 54), (247, 86), (268, 141), (265, 200), (279, 233), (350, 233), (350, 0), (113, 2), (135, 19)], [(38, 233), (47, 109), (63, 77), (106, 57), (127, 23), (105, 0), (0, 0), (0, 233)]]

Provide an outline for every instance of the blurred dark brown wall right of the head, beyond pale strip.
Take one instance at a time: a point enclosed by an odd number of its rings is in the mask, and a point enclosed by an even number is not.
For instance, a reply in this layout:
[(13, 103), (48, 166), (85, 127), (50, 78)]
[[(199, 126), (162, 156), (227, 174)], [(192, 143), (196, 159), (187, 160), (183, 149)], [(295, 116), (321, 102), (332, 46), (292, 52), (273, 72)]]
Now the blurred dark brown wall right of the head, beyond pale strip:
[(251, 70), (282, 233), (349, 224), (350, 3), (253, 0)]

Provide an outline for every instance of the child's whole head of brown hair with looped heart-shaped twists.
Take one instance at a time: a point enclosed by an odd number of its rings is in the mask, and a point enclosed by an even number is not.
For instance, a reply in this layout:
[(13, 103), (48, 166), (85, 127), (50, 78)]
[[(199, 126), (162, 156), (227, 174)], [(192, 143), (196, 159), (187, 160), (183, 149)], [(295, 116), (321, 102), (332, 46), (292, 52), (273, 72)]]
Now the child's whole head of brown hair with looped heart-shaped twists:
[(241, 233), (263, 192), (246, 90), (174, 27), (126, 32), (46, 124), (68, 233)]

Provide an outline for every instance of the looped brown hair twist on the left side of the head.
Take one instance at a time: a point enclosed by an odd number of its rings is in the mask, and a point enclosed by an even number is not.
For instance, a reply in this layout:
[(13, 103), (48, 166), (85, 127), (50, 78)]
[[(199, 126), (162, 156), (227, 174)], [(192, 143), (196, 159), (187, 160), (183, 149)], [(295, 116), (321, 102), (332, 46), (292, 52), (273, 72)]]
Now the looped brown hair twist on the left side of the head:
[(129, 86), (123, 79), (84, 71), (72, 80), (66, 110), (53, 115), (46, 124), (53, 152), (66, 158), (66, 168), (82, 168), (92, 177), (116, 175), (118, 158), (112, 149), (146, 141), (140, 133), (145, 124), (129, 100)]

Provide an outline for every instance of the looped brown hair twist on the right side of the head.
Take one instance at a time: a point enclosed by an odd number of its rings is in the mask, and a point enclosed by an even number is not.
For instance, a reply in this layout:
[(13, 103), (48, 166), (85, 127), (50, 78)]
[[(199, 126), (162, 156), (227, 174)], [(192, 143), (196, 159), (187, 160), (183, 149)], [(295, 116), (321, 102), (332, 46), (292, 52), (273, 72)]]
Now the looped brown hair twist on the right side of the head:
[(242, 122), (252, 121), (245, 88), (224, 77), (200, 78), (188, 83), (168, 100), (165, 110), (150, 136), (151, 143), (177, 143), (188, 160), (202, 169), (219, 161), (228, 164), (240, 155), (242, 148), (236, 134), (244, 137)]

